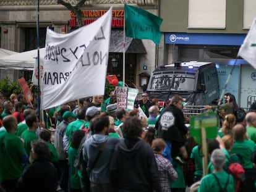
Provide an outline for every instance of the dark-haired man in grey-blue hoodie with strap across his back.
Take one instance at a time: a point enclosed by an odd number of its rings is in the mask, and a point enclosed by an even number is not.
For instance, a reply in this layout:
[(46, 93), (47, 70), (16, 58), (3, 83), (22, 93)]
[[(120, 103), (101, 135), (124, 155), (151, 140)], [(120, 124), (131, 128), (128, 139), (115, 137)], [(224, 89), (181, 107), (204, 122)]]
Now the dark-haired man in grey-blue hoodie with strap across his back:
[(90, 123), (92, 136), (85, 140), (83, 159), (87, 163), (87, 173), (90, 177), (91, 192), (114, 191), (110, 180), (109, 165), (114, 147), (121, 140), (109, 137), (109, 118), (99, 116)]

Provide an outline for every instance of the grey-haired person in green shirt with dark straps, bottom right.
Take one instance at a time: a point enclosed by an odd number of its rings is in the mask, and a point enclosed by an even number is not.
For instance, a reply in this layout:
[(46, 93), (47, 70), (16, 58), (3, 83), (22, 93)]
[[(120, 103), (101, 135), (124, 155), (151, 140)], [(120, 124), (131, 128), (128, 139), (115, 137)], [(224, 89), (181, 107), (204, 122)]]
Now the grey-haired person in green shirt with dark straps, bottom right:
[(213, 164), (213, 173), (205, 175), (202, 178), (198, 192), (234, 192), (234, 180), (223, 170), (226, 156), (221, 149), (215, 149), (211, 154), (211, 164)]

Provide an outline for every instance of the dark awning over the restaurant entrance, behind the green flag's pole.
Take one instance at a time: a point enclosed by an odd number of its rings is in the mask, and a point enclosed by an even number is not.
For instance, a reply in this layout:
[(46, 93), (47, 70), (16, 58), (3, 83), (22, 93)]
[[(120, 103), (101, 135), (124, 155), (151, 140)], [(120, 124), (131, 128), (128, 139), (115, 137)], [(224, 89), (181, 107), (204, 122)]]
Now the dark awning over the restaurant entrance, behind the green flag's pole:
[[(109, 52), (123, 52), (124, 31), (120, 29), (112, 29), (110, 37)], [(147, 51), (142, 40), (134, 40), (126, 37), (126, 53), (146, 54)]]

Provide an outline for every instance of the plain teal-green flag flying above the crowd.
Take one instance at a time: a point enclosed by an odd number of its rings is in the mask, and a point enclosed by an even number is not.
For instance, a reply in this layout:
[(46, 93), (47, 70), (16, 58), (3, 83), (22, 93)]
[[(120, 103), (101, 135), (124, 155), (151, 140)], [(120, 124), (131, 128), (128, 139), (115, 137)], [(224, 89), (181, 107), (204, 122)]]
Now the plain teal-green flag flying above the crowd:
[(134, 39), (147, 39), (159, 44), (161, 39), (160, 25), (163, 21), (146, 10), (124, 4), (126, 36)]

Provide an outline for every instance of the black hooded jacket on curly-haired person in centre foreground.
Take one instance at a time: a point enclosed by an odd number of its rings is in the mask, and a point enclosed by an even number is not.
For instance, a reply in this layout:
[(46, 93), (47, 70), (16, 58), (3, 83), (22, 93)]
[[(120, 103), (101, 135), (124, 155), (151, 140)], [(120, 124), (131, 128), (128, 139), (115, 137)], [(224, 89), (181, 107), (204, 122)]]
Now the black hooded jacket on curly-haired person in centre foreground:
[(153, 150), (139, 138), (126, 138), (114, 149), (111, 181), (120, 191), (160, 191), (160, 176)]

